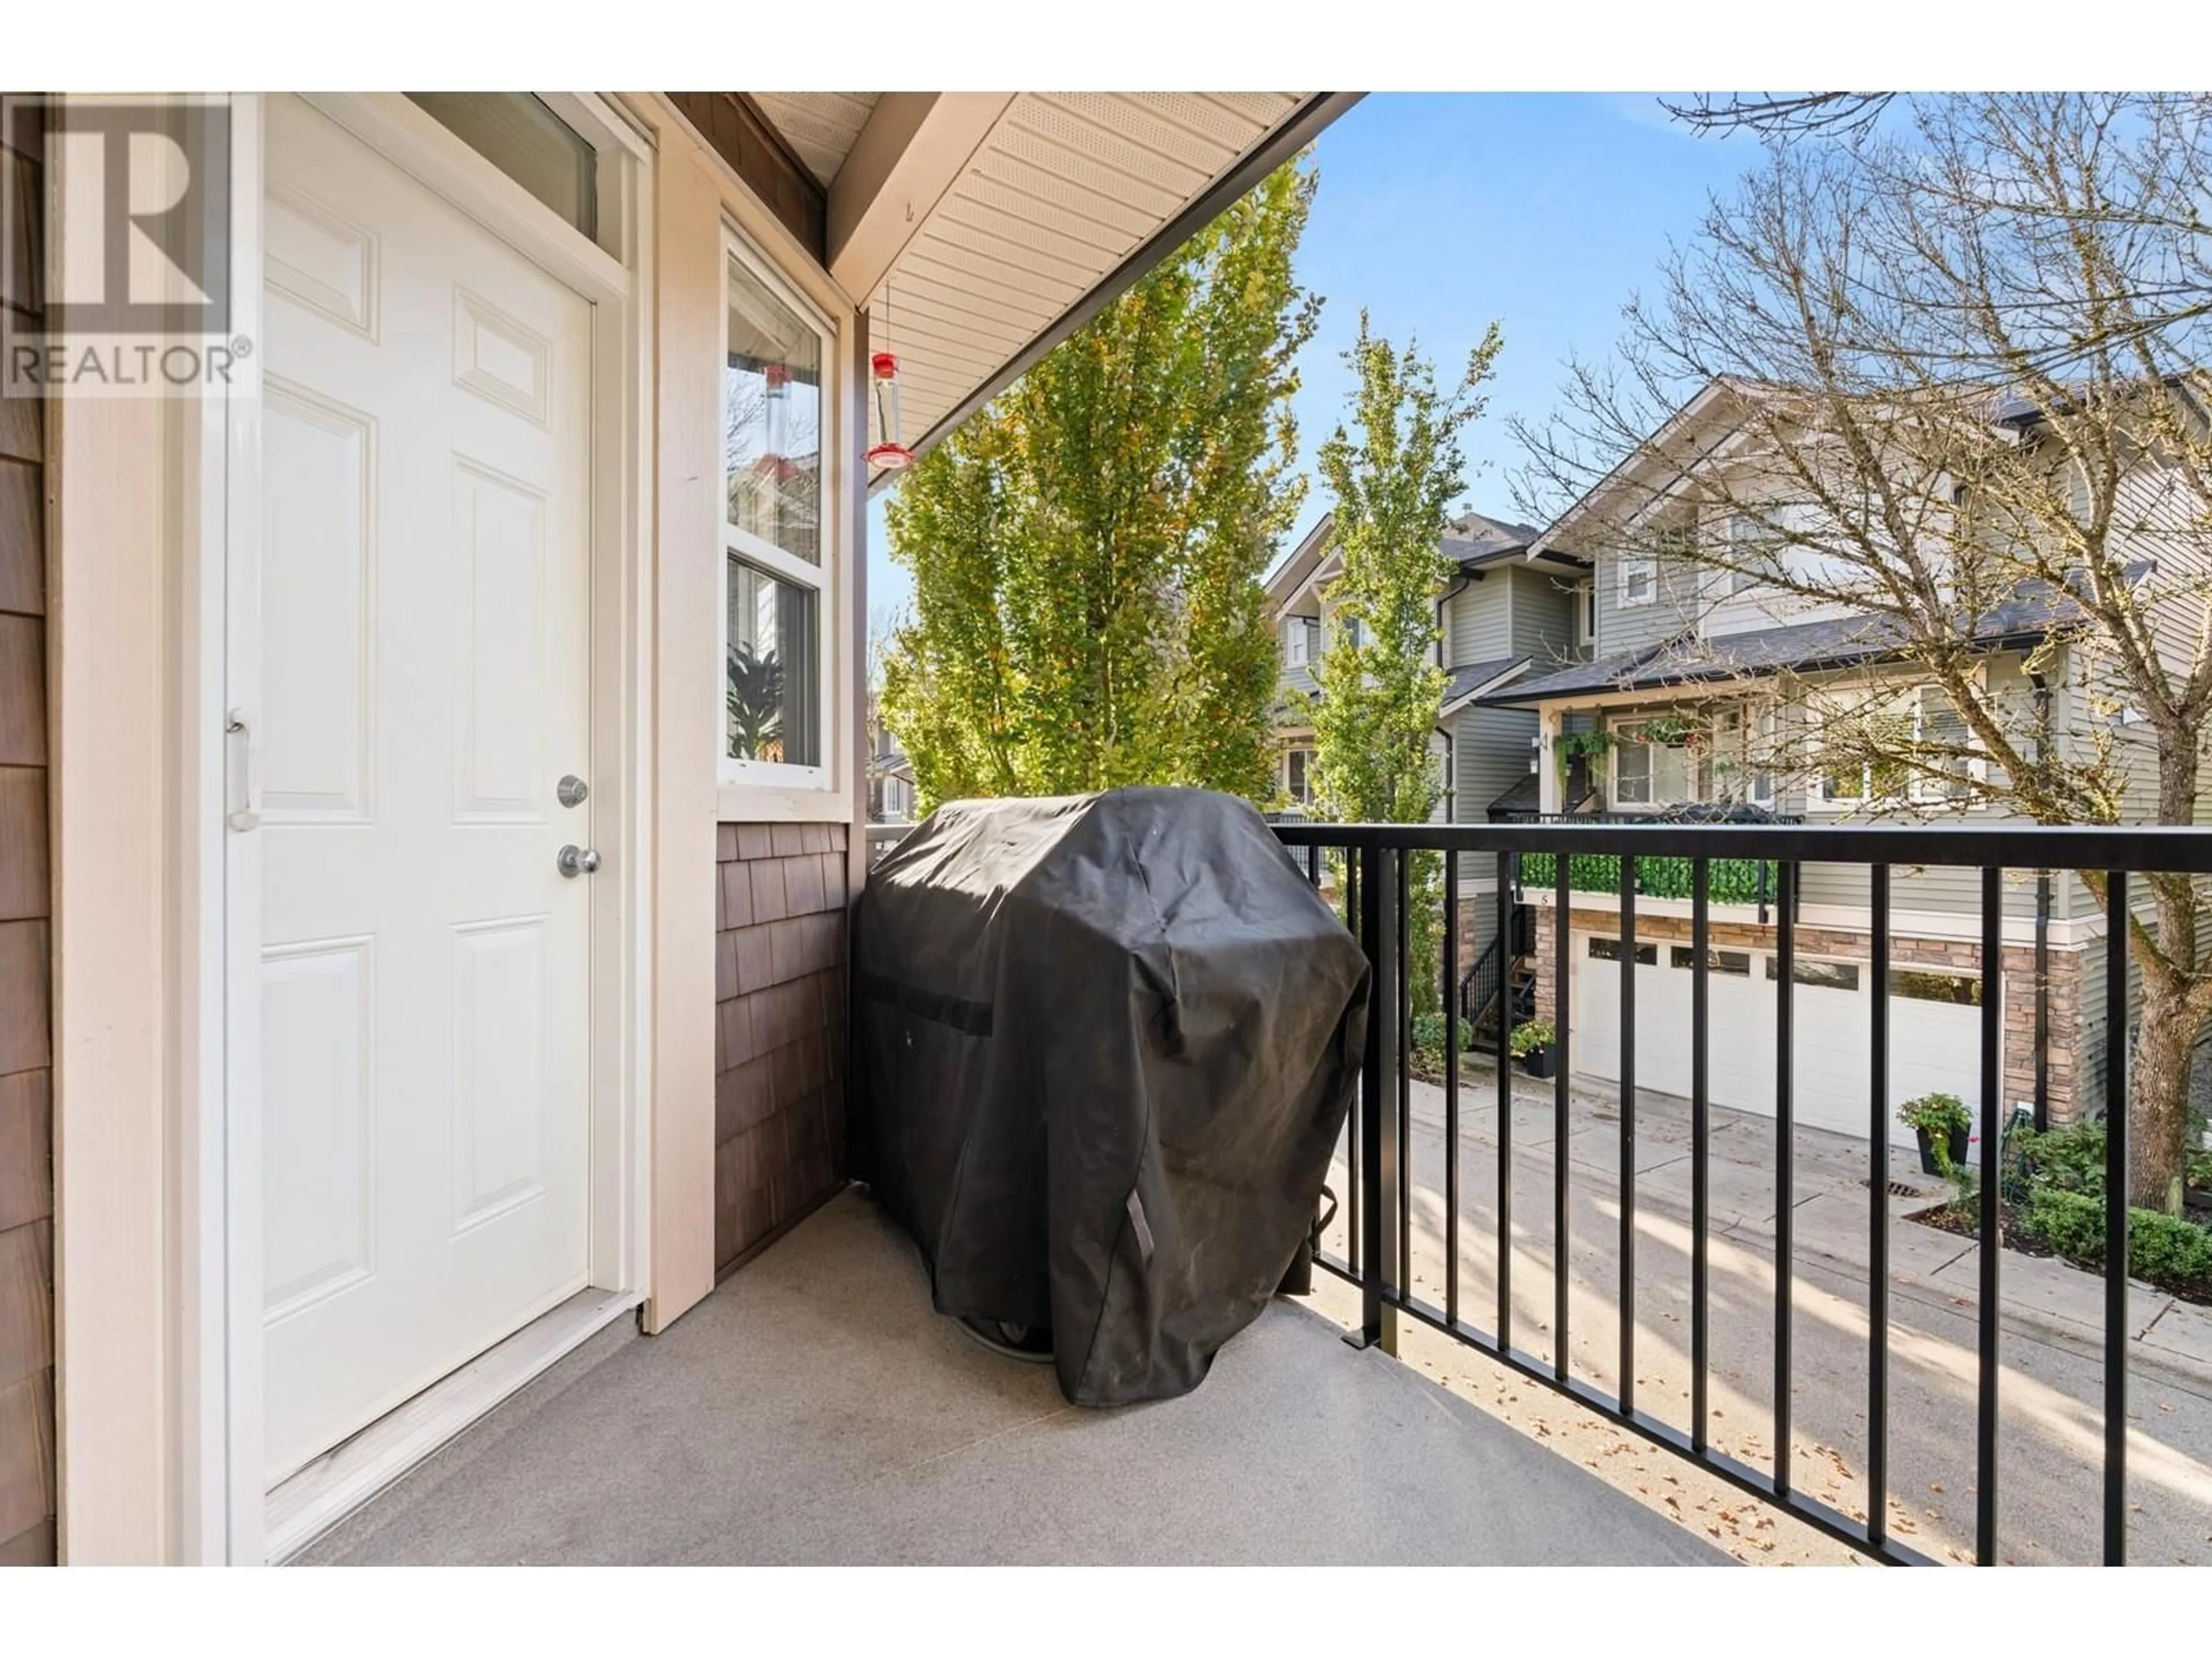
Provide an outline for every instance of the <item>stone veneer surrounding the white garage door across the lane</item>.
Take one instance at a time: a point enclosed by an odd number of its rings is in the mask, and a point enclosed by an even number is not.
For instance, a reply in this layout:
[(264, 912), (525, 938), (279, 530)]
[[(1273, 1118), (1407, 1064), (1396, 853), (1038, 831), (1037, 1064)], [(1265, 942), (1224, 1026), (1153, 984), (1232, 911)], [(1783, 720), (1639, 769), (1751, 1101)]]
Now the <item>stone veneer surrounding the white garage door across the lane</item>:
[[(1619, 911), (1613, 907), (1575, 907), (1575, 933), (1621, 931)], [(1752, 922), (1712, 922), (1712, 945), (1730, 949), (1772, 951), (1774, 927)], [(1637, 940), (1663, 940), (1668, 945), (1690, 942), (1690, 918), (1652, 916), (1637, 911)], [(1557, 1002), (1553, 998), (1553, 909), (1537, 905), (1535, 911), (1535, 1013), (1537, 1020), (1553, 1020)], [(1796, 949), (1801, 956), (1836, 956), (1867, 960), (1874, 951), (1874, 936), (1836, 927), (1798, 927)], [(1891, 933), (1889, 964), (1933, 967), (1955, 973), (1982, 971), (1982, 947), (1966, 940), (1936, 940)], [(2006, 945), (2000, 962), (2004, 975), (2004, 1099), (2035, 1099), (2035, 947)], [(2070, 1124), (2079, 1099), (2079, 1066), (2084, 1060), (2081, 1029), (2081, 951), (2051, 949), (2051, 1121)]]

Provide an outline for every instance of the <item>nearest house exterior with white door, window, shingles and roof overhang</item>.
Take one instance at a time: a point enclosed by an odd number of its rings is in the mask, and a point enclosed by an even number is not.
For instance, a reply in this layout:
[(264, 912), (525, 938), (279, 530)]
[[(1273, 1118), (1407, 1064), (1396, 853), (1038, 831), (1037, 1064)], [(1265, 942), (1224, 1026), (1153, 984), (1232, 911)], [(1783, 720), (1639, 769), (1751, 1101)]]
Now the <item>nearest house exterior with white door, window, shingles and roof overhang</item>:
[(841, 1188), (883, 445), (1352, 102), (7, 95), (0, 345), (232, 310), (0, 396), (0, 1564), (281, 1557)]

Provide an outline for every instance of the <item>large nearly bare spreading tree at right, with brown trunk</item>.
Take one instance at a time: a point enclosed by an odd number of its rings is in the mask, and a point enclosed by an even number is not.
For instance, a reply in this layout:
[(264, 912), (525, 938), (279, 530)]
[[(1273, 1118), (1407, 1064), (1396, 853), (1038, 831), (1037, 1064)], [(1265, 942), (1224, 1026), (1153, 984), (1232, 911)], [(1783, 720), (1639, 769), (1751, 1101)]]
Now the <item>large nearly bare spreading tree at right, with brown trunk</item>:
[[(1608, 480), (1588, 549), (1847, 606), (1936, 692), (1900, 714), (1896, 659), (1823, 684), (1814, 741), (1776, 721), (1759, 770), (1818, 785), (1840, 768), (1885, 816), (2197, 823), (2212, 97), (1900, 97), (1863, 117), (1827, 100), (1745, 124), (1778, 133), (1765, 164), (1628, 307), (1619, 354), (1573, 372), (1564, 414), (1517, 429), (1528, 507)], [(1725, 427), (1652, 438), (1699, 387), (1725, 394)], [(1984, 672), (1984, 619), (2035, 595), (2068, 606), (2031, 679)], [(2179, 1210), (2212, 896), (2157, 874), (2135, 896), (2128, 1183)]]

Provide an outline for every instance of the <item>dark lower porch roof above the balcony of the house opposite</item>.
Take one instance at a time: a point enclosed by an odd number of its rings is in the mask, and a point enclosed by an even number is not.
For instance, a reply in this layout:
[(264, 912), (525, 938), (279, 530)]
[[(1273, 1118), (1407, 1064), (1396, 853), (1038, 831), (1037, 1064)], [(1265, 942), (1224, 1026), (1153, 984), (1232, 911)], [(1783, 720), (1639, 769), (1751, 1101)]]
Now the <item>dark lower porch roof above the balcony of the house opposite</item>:
[[(2139, 582), (2150, 564), (2130, 564), (2128, 582)], [(2079, 626), (2079, 602), (2048, 582), (2022, 582), (2004, 604), (1991, 606), (1973, 628), (1978, 650), (2037, 646), (2053, 633)], [(1778, 628), (1699, 639), (1683, 630), (1641, 650), (1573, 664), (1551, 675), (1522, 679), (1509, 690), (1480, 697), (1484, 703), (1544, 703), (1595, 692), (1699, 686), (1717, 679), (1763, 677), (1781, 670), (1818, 672), (1902, 657), (1905, 630), (1896, 617), (1834, 617)]]

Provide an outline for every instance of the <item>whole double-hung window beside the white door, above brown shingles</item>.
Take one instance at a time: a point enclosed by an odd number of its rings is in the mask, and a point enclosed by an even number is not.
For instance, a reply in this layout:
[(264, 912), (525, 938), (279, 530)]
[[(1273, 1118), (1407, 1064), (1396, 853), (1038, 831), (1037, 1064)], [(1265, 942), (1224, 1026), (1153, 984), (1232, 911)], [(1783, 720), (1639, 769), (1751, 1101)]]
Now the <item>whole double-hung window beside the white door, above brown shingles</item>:
[(723, 776), (825, 787), (823, 363), (830, 327), (723, 259)]

